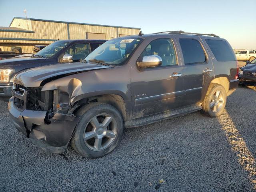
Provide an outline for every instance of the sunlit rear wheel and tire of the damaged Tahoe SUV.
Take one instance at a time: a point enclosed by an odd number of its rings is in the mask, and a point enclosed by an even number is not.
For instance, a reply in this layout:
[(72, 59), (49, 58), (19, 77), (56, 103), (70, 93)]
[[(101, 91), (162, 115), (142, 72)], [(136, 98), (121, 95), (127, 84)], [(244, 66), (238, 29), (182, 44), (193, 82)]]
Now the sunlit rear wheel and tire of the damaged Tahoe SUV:
[(218, 117), (226, 106), (226, 100), (225, 88), (220, 84), (212, 83), (202, 102), (202, 112), (210, 117)]

